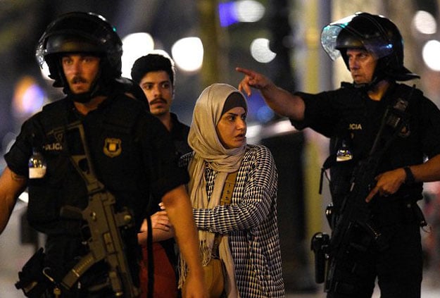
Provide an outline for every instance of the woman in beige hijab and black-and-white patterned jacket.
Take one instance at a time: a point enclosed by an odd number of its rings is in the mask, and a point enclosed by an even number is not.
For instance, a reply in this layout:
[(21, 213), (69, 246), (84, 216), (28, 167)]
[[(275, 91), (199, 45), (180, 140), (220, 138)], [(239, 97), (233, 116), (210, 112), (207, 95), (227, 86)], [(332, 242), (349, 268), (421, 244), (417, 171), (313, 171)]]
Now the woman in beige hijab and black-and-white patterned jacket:
[[(199, 229), (203, 266), (215, 233), (227, 271), (225, 297), (284, 297), (277, 228), (277, 169), (269, 149), (246, 144), (247, 103), (234, 87), (214, 84), (196, 101), (182, 156)], [(228, 173), (238, 170), (229, 205), (220, 205)], [(183, 261), (182, 261), (183, 262)], [(182, 264), (180, 284), (185, 272)]]

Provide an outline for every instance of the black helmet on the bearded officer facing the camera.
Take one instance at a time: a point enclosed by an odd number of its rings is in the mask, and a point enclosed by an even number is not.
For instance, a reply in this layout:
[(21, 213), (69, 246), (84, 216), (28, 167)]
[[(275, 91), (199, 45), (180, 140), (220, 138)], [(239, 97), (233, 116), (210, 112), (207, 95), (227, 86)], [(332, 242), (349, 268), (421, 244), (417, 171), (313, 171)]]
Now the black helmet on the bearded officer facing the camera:
[(122, 42), (115, 27), (95, 13), (65, 13), (54, 20), (40, 37), (35, 56), (40, 67), (49, 66), (55, 87), (66, 87), (59, 54), (92, 53), (103, 59), (101, 73), (120, 77)]

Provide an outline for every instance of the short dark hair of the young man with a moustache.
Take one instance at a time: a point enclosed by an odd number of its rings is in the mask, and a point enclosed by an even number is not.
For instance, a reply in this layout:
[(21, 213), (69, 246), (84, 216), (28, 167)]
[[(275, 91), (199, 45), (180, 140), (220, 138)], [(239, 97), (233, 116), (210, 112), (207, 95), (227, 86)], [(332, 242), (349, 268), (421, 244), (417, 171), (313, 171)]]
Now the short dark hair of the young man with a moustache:
[(132, 66), (132, 80), (139, 84), (142, 77), (151, 71), (163, 70), (170, 76), (171, 84), (174, 86), (175, 66), (174, 61), (161, 54), (148, 54), (134, 61)]

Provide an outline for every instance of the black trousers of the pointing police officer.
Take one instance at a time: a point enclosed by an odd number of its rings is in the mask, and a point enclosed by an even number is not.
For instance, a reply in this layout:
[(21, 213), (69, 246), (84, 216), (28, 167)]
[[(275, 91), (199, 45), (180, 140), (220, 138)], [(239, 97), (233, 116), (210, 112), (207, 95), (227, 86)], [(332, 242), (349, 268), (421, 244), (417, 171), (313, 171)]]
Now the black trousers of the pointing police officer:
[(381, 298), (420, 298), (420, 226), (415, 222), (396, 223), (382, 227), (381, 232), (387, 248), (379, 250), (371, 243), (365, 250), (353, 249), (334, 267), (337, 287), (327, 292), (327, 298), (370, 298), (376, 278)]

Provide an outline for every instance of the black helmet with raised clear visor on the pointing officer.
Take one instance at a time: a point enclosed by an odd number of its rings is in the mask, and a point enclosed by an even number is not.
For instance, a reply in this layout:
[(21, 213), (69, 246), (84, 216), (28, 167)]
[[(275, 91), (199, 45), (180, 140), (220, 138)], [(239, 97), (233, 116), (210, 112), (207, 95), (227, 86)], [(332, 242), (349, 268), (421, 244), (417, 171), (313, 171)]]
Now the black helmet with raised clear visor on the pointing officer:
[(321, 44), (332, 60), (342, 56), (348, 68), (347, 49), (366, 49), (378, 59), (375, 77), (411, 80), (418, 75), (403, 66), (403, 38), (396, 25), (382, 15), (358, 12), (322, 29)]

